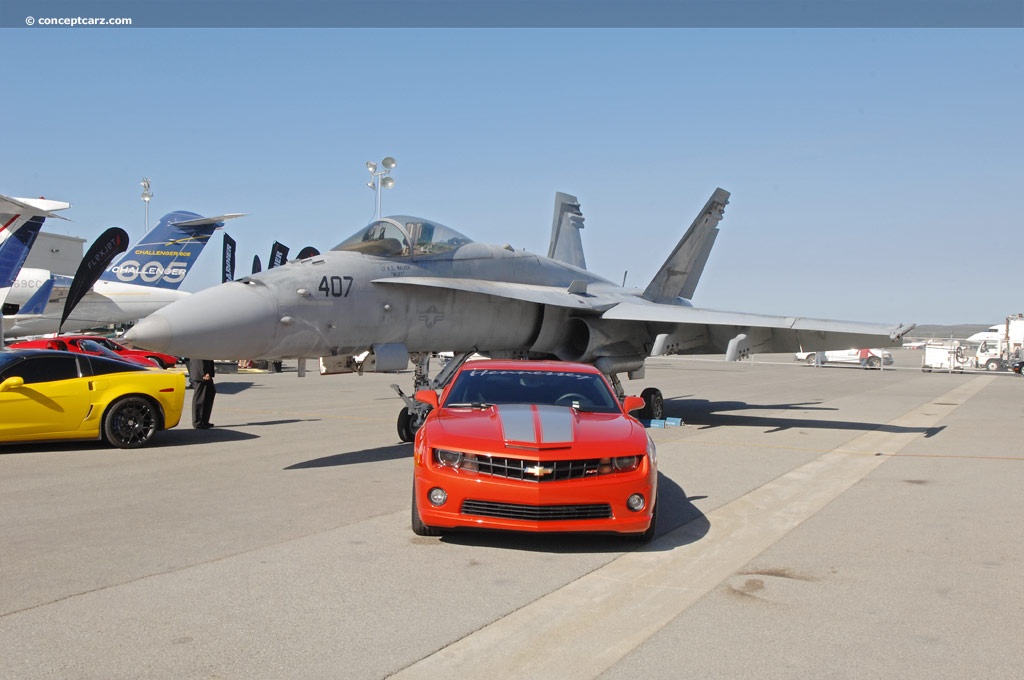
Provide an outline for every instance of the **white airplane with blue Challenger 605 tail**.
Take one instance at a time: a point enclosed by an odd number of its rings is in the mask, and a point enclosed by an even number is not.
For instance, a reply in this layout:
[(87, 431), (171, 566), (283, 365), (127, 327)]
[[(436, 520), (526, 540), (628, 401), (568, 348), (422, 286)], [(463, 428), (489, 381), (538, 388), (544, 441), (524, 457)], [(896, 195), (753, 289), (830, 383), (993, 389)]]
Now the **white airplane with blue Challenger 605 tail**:
[[(241, 217), (230, 213), (203, 217), (175, 211), (164, 215), (142, 240), (106, 268), (82, 298), (61, 330), (76, 331), (109, 324), (135, 322), (189, 295), (178, 290), (214, 230), (224, 221)], [(23, 268), (7, 299), (4, 334), (7, 337), (55, 333), (60, 326), (63, 300), (71, 277), (46, 269)], [(22, 306), (47, 282), (53, 282), (49, 304), (42, 313), (24, 313)], [(22, 313), (17, 313), (22, 312)]]

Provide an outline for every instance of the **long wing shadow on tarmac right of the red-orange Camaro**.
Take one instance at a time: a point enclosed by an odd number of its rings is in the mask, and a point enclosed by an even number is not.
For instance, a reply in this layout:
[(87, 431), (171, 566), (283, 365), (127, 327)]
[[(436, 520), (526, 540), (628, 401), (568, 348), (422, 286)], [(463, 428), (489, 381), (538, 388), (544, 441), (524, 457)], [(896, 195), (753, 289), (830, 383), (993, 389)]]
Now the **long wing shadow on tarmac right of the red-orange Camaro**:
[(816, 407), (816, 401), (798, 403), (746, 403), (745, 401), (709, 401), (708, 399), (666, 399), (665, 415), (681, 418), (683, 423), (701, 429), (712, 427), (758, 427), (765, 433), (781, 432), (794, 428), (818, 430), (860, 430), (924, 434), (932, 437), (945, 429), (939, 427), (903, 427), (886, 423), (868, 423), (849, 420), (817, 420), (813, 418), (782, 418), (750, 414), (725, 414), (726, 411), (839, 411), (831, 407)]

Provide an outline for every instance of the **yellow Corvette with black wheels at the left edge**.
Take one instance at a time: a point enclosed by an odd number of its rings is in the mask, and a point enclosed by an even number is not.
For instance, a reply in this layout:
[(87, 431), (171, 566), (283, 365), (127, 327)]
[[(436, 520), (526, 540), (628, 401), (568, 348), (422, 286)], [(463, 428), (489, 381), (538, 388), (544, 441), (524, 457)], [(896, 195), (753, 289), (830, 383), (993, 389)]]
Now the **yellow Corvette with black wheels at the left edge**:
[(150, 442), (181, 419), (185, 377), (104, 356), (0, 351), (0, 443), (103, 439)]

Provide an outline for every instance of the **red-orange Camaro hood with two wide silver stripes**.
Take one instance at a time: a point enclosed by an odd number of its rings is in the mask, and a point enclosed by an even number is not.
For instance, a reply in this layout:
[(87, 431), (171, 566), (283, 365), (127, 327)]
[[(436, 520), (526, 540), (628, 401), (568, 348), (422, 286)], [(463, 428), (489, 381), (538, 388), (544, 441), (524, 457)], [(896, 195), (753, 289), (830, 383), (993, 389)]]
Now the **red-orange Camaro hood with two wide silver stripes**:
[(632, 418), (567, 407), (516, 403), (440, 409), (425, 427), (432, 445), (473, 452), (512, 449), (522, 455), (524, 450), (562, 450), (592, 458), (622, 455), (626, 448), (643, 453), (646, 445), (643, 427)]

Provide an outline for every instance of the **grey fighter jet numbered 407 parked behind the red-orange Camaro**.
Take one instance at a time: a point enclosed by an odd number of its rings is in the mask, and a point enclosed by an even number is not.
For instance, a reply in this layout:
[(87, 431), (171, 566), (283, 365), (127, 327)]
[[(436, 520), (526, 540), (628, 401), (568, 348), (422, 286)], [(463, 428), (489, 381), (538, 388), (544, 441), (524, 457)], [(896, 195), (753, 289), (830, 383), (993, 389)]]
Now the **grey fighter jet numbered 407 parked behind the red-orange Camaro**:
[[(321, 357), (322, 372), (416, 369), (414, 387), (439, 387), (473, 352), (586, 362), (609, 377), (643, 377), (666, 352), (879, 346), (912, 327), (700, 309), (692, 294), (729, 193), (717, 189), (645, 290), (585, 268), (573, 197), (555, 202), (550, 257), (475, 243), (439, 222), (376, 219), (324, 254), (200, 291), (151, 314), (127, 339), (182, 356)], [(369, 350), (357, 364), (352, 357)], [(433, 352), (454, 351), (434, 378)], [(300, 366), (302, 364), (300, 363)], [(401, 391), (399, 394), (401, 394)], [(402, 394), (398, 433), (411, 440), (427, 407)], [(641, 396), (660, 418), (662, 393)]]

